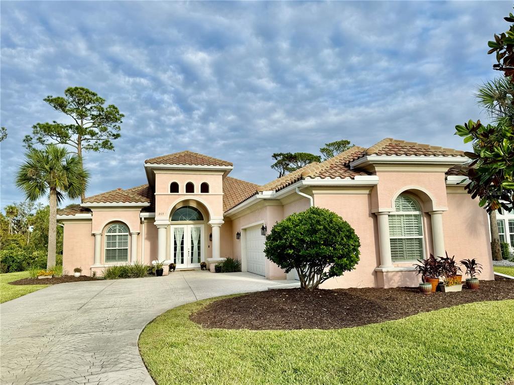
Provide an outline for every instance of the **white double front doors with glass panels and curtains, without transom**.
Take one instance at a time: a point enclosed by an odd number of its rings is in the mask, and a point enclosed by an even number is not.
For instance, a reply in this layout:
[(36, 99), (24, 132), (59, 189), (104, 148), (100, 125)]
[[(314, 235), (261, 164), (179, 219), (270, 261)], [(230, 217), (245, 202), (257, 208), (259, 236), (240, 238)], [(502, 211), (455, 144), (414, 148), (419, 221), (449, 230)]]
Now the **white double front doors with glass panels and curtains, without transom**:
[(200, 267), (204, 261), (204, 225), (171, 226), (171, 259), (177, 268)]

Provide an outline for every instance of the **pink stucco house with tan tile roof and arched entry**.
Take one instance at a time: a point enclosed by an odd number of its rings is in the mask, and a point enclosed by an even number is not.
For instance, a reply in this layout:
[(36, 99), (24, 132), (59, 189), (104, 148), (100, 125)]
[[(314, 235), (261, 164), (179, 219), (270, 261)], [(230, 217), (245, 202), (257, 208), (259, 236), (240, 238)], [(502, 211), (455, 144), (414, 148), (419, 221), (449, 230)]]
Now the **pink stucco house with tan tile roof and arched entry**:
[(109, 265), (159, 260), (177, 269), (205, 261), (212, 271), (232, 257), (243, 271), (294, 278), (265, 258), (265, 234), (316, 205), (350, 223), (362, 244), (355, 270), (322, 287), (417, 285), (413, 262), (445, 250), (477, 258), (480, 278), (493, 279), (487, 214), (460, 183), (466, 161), (462, 151), (388, 138), (260, 186), (229, 177), (232, 163), (199, 153), (148, 159), (148, 184), (60, 211), (64, 269), (101, 275)]

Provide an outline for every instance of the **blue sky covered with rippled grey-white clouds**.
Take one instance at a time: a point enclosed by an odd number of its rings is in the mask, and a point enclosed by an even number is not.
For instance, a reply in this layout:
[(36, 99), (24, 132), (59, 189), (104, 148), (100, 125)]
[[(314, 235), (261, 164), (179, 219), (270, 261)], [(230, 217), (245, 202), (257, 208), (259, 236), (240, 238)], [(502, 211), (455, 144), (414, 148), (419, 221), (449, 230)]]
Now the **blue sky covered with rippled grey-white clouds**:
[(270, 155), (384, 137), (465, 149), (474, 87), (511, 2), (1, 2), (2, 207), (43, 102), (68, 86), (125, 114), (116, 151), (86, 153), (87, 195), (145, 183), (144, 159), (189, 149), (276, 177)]

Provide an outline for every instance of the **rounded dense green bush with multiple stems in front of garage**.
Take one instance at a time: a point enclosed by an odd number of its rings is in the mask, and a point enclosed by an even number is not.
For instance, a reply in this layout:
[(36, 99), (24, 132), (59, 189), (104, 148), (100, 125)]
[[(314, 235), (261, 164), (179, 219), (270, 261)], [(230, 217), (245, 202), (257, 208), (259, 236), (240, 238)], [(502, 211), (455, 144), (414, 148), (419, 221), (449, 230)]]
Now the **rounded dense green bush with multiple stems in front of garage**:
[(264, 253), (286, 273), (296, 271), (302, 288), (313, 290), (352, 270), (359, 262), (359, 247), (359, 237), (340, 216), (310, 207), (274, 225)]

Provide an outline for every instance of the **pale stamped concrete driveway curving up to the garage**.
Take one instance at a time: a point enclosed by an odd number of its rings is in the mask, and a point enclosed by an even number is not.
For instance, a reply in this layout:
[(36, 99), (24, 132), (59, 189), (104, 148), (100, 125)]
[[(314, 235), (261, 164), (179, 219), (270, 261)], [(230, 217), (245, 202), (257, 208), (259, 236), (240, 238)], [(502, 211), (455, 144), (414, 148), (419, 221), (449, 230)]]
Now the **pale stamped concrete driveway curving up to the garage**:
[(0, 383), (153, 384), (137, 347), (148, 322), (184, 303), (285, 283), (190, 271), (49, 286), (0, 305)]

